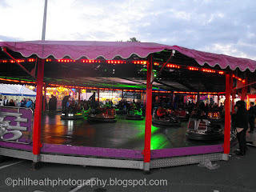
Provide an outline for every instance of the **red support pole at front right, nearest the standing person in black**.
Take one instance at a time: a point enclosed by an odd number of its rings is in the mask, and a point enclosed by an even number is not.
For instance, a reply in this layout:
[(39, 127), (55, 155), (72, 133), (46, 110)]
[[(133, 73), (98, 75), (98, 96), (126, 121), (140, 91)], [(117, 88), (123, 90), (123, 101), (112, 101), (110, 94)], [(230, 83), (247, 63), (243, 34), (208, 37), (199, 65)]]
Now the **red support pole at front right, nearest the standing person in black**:
[(225, 130), (224, 130), (224, 154), (230, 154), (230, 93), (231, 93), (231, 74), (226, 74), (226, 102), (225, 102)]

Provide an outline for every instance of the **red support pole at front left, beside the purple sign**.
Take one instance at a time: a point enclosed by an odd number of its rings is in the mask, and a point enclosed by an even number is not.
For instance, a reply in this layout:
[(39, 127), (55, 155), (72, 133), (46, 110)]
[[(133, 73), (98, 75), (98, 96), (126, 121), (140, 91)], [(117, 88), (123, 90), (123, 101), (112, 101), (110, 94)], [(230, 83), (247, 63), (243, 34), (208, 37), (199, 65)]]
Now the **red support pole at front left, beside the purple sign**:
[(38, 59), (38, 79), (37, 79), (37, 96), (34, 109), (34, 129), (33, 129), (33, 154), (40, 154), (42, 146), (41, 136), (41, 118), (42, 118), (42, 86), (44, 74), (45, 59)]

